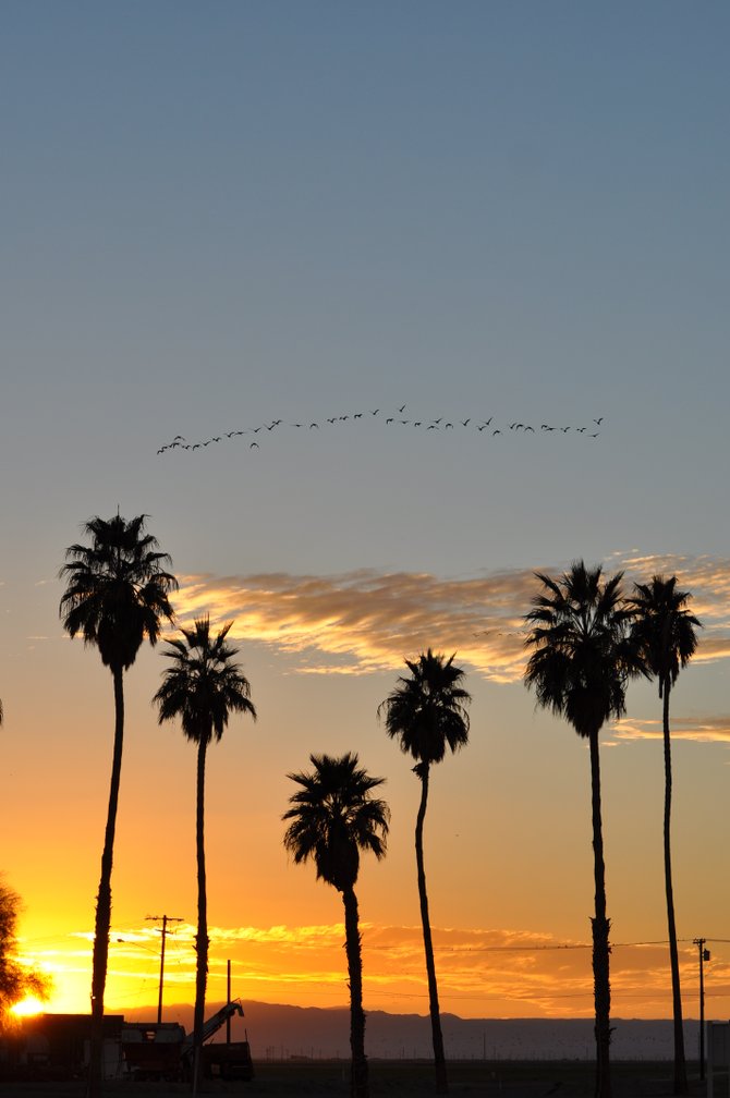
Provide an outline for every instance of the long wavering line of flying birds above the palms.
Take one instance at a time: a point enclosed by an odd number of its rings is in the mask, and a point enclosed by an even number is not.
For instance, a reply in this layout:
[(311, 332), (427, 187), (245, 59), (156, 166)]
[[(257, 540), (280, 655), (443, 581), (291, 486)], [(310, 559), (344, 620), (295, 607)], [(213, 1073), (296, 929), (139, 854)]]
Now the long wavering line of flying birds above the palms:
[(585, 438), (598, 438), (600, 435), (600, 425), (604, 422), (603, 416), (598, 416), (597, 419), (593, 419), (591, 426), (586, 427), (574, 427), (574, 426), (555, 426), (549, 423), (541, 423), (538, 426), (532, 426), (529, 423), (520, 423), (515, 419), (514, 423), (504, 423), (502, 426), (497, 426), (494, 423), (494, 416), (491, 415), (488, 419), (478, 419), (468, 416), (464, 419), (450, 421), (446, 416), (438, 416), (435, 419), (423, 419), (423, 418), (404, 418), (406, 414), (407, 404), (402, 404), (401, 407), (393, 412), (383, 412), (381, 408), (368, 408), (366, 412), (348, 412), (345, 415), (333, 415), (325, 416), (322, 421), (302, 421), (301, 423), (284, 423), (283, 419), (272, 419), (271, 423), (261, 423), (258, 427), (244, 427), (240, 430), (226, 430), (221, 435), (213, 435), (212, 438), (206, 438), (198, 442), (189, 442), (184, 435), (176, 435), (171, 442), (166, 442), (165, 446), (160, 446), (157, 453), (166, 453), (168, 450), (202, 450), (206, 446), (217, 445), (218, 442), (229, 441), (234, 438), (240, 438), (244, 435), (255, 435), (248, 448), (251, 450), (258, 450), (261, 447), (261, 441), (267, 438), (268, 435), (278, 430), (280, 427), (295, 427), (302, 430), (319, 430), (322, 428), (334, 427), (337, 424), (355, 424), (361, 421), (368, 421), (368, 418), (380, 417), (381, 422), (386, 425), (402, 426), (402, 427), (416, 427), (422, 430), (463, 430), (464, 428), (471, 430), (478, 430), (480, 433), (487, 432), (491, 437), (496, 435), (508, 435), (509, 433), (519, 434), (520, 432), (527, 434), (531, 432), (534, 435), (537, 434), (550, 434), (552, 432), (558, 432), (559, 434), (568, 435), (572, 432), (574, 435), (582, 435)]

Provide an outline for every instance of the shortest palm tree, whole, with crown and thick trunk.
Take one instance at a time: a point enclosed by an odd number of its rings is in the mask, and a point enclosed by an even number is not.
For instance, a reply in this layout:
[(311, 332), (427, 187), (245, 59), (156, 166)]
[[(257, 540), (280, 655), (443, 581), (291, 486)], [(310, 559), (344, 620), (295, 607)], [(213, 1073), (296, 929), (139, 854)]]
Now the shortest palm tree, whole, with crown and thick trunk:
[(384, 800), (371, 796), (384, 778), (370, 777), (358, 765), (358, 757), (349, 752), (339, 759), (312, 754), (310, 762), (314, 766), (312, 773), (288, 774), (301, 788), (289, 798), (292, 807), (282, 817), (292, 821), (284, 834), (284, 847), (297, 864), (313, 859), (317, 878), (342, 895), (350, 985), (350, 1093), (353, 1098), (368, 1098), (362, 956), (355, 885), (361, 850), (372, 851), (378, 859), (385, 855), (390, 810)]

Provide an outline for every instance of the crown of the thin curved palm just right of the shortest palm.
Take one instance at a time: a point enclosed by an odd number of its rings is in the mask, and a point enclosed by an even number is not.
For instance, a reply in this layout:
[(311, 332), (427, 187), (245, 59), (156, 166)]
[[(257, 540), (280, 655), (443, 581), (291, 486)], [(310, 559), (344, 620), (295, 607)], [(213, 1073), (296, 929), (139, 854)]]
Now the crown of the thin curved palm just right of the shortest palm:
[[(454, 653), (456, 654), (456, 653)], [(441, 762), (447, 747), (457, 751), (469, 741), (470, 694), (460, 685), (464, 672), (428, 649), (418, 660), (406, 660), (411, 677), (401, 676), (379, 706), (385, 731), (417, 763)]]

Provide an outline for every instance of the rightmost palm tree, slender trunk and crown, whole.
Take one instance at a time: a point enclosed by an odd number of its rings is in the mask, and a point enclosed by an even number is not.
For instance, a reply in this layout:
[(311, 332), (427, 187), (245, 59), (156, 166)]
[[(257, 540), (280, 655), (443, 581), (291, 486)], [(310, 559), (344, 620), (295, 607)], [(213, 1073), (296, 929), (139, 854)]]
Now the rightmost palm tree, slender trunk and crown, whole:
[(682, 1026), (682, 993), (680, 989), (680, 957), (677, 952), (676, 922), (674, 918), (674, 889), (672, 886), (672, 741), (670, 737), (670, 694), (697, 648), (695, 630), (701, 623), (686, 608), (692, 596), (677, 591), (673, 575), (665, 580), (655, 575), (650, 584), (636, 583), (634, 596), (629, 607), (636, 615), (631, 635), (644, 659), (647, 670), (659, 683), (663, 703), (664, 726), (664, 887), (666, 892), (666, 921), (670, 939), (670, 967), (672, 971), (672, 1004), (674, 1013), (674, 1093), (687, 1094), (687, 1066), (684, 1055)]

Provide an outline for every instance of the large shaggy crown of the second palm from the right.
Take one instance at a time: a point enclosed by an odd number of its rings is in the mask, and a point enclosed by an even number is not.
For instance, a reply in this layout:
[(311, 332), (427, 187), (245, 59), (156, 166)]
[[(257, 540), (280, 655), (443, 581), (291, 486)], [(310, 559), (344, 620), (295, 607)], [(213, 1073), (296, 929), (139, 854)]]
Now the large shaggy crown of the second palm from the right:
[(631, 612), (621, 598), (622, 573), (604, 581), (600, 567), (575, 562), (559, 580), (536, 573), (546, 593), (525, 615), (534, 649), (525, 682), (538, 704), (565, 717), (580, 736), (598, 732), (626, 712), (626, 682), (642, 671), (627, 637)]

